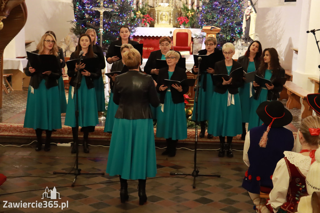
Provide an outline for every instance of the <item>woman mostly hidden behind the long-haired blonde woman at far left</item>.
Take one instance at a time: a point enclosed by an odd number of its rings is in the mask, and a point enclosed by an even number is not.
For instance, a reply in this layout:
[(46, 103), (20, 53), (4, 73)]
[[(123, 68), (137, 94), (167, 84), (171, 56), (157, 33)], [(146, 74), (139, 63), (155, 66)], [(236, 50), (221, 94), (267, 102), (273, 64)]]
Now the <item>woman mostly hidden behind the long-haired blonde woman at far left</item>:
[[(51, 35), (53, 35), (54, 39), (57, 41), (56, 35), (54, 34), (53, 31), (47, 31), (45, 33), (50, 33)], [(60, 66), (61, 66), (61, 73), (62, 73), (62, 69), (66, 66), (66, 61), (64, 60), (63, 50), (59, 46), (58, 46), (58, 51), (59, 51)], [(63, 75), (63, 73), (62, 73), (62, 75)], [(67, 99), (66, 99), (66, 92), (64, 90), (64, 82), (63, 82), (62, 75), (60, 76), (60, 78), (58, 80), (58, 89), (59, 89), (59, 95), (60, 95), (61, 113), (66, 113)]]

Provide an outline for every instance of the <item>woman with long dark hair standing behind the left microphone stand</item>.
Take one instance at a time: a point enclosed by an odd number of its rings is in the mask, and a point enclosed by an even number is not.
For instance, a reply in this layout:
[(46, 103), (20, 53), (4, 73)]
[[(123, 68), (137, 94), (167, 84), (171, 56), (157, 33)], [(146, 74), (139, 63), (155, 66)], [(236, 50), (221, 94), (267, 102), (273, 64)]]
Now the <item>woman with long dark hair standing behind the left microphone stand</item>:
[[(79, 57), (79, 52), (83, 51), (83, 58), (94, 58), (97, 57), (96, 54), (93, 53), (92, 50), (92, 42), (90, 35), (82, 34), (80, 35), (77, 50), (71, 53), (70, 60), (77, 59)], [(81, 72), (81, 73), (78, 73)], [(72, 127), (72, 135), (73, 140), (76, 141), (78, 139), (78, 129), (79, 126), (82, 127), (84, 132), (84, 140), (83, 140), (83, 149), (84, 153), (89, 153), (88, 147), (88, 136), (89, 132), (94, 131), (94, 127), (99, 123), (98, 120), (98, 111), (97, 111), (97, 99), (96, 93), (94, 90), (93, 80), (100, 77), (101, 70), (99, 65), (94, 70), (90, 70), (88, 72), (85, 70), (85, 64), (80, 63), (79, 70), (77, 70), (77, 64), (74, 69), (68, 69), (68, 76), (71, 77), (70, 80), (70, 88), (69, 88), (69, 96), (68, 96), (68, 105), (67, 105), (67, 113), (65, 125)], [(78, 126), (76, 126), (76, 89), (75, 86), (77, 79), (81, 79), (81, 85), (78, 91)], [(76, 153), (75, 144), (73, 144), (71, 153)]]

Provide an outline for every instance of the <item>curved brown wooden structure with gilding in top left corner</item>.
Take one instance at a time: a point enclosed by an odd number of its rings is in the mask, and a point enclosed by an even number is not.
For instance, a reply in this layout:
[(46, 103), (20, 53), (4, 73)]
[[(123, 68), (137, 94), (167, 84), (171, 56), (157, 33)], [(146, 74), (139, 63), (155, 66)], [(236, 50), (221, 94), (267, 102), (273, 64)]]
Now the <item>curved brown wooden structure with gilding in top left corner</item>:
[[(0, 109), (2, 107), (3, 51), (27, 21), (24, 0), (0, 0)], [(9, 15), (10, 14), (10, 15)]]

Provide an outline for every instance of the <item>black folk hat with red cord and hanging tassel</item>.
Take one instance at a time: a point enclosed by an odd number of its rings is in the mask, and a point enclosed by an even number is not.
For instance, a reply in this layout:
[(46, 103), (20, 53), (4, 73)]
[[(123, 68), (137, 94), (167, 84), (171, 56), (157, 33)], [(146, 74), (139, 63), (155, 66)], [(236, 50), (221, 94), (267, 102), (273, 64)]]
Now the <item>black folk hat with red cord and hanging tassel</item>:
[(280, 101), (264, 101), (262, 102), (256, 113), (265, 125), (268, 125), (267, 130), (263, 133), (259, 146), (266, 147), (268, 141), (268, 132), (271, 127), (283, 127), (292, 121), (292, 114), (284, 108)]

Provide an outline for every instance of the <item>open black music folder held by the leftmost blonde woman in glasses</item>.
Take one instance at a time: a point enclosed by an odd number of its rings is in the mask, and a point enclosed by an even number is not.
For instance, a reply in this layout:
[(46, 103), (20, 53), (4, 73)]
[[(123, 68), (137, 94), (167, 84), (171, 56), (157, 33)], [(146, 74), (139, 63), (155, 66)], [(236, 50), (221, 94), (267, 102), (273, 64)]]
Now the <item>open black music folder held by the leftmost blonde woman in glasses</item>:
[(55, 55), (39, 55), (27, 51), (27, 56), (30, 67), (36, 69), (36, 72), (38, 73), (46, 71), (56, 72), (57, 70), (60, 70), (60, 64)]

